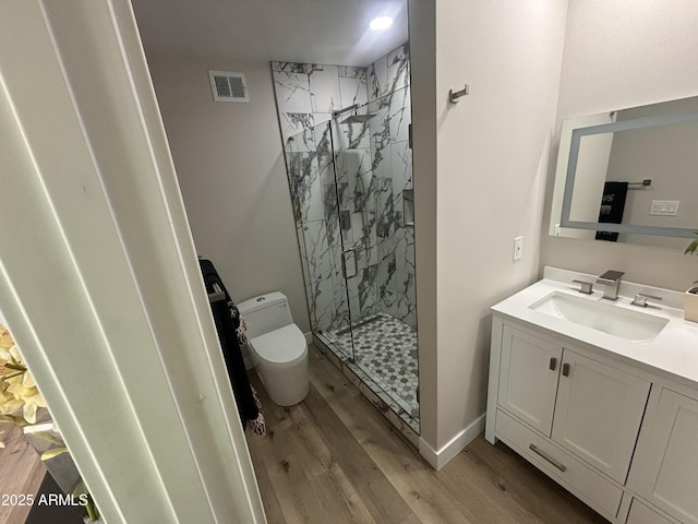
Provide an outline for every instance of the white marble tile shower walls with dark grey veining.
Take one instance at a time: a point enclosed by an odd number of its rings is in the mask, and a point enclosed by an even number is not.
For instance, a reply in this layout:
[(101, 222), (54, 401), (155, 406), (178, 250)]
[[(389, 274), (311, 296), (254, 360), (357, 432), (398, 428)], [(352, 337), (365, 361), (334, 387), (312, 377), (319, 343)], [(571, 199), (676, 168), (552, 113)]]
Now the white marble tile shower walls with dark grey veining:
[[(353, 321), (384, 311), (414, 326), (407, 46), (366, 68), (272, 62), (272, 71), (313, 327), (346, 326), (349, 306)], [(353, 104), (375, 117), (330, 131), (332, 111)], [(342, 238), (358, 270), (346, 284)]]

